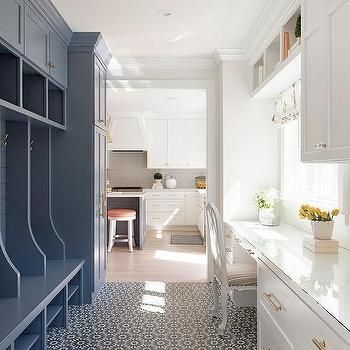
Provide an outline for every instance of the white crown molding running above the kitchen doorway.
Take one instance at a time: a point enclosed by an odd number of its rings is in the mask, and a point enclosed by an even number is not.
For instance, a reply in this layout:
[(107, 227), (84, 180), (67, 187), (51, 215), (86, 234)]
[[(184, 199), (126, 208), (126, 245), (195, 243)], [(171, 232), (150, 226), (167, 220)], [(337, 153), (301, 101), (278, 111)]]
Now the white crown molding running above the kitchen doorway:
[(140, 70), (169, 70), (169, 69), (216, 69), (214, 58), (113, 58), (109, 64), (109, 72), (118, 75), (121, 70), (140, 71)]

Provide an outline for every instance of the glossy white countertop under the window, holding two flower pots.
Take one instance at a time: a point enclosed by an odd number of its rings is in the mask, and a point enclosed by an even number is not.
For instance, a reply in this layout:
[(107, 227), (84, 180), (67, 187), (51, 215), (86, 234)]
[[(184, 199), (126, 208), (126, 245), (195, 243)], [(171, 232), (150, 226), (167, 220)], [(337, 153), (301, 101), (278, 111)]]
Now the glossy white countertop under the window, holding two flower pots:
[(303, 248), (307, 232), (287, 224), (225, 223), (350, 330), (350, 251), (314, 254)]

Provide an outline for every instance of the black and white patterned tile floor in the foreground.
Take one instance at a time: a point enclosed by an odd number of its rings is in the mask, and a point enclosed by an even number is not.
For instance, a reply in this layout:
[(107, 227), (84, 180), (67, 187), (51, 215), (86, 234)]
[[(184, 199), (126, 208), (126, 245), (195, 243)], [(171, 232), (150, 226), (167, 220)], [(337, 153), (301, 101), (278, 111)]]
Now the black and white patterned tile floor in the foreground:
[(66, 329), (48, 331), (48, 349), (256, 349), (256, 310), (229, 305), (220, 337), (211, 304), (208, 283), (106, 283), (92, 305), (70, 307)]

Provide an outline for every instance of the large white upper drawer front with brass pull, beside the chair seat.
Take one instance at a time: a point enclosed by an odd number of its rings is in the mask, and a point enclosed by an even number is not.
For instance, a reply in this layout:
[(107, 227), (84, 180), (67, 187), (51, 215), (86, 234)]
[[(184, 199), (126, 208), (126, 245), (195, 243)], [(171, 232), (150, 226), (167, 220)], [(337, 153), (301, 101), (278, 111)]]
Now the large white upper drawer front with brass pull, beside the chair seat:
[(295, 345), (298, 297), (261, 262), (258, 265), (258, 304), (278, 325), (289, 343)]

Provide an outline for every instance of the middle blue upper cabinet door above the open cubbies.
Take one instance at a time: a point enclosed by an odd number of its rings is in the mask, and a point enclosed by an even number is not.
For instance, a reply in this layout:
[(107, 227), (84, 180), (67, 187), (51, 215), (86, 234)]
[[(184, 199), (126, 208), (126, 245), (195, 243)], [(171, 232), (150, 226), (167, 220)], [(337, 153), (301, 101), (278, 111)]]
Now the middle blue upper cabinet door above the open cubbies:
[(25, 55), (48, 73), (49, 29), (28, 6), (26, 6), (25, 28)]

